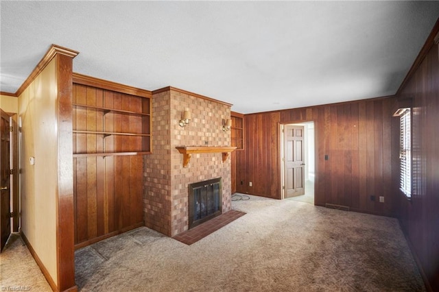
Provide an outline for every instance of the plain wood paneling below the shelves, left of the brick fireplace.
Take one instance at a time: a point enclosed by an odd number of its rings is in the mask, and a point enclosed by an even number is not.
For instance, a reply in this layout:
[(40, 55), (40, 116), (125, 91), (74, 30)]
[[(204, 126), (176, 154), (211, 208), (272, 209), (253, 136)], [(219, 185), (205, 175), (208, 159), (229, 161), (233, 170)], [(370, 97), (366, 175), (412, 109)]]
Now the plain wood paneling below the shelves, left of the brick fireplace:
[(77, 247), (143, 226), (142, 169), (142, 156), (73, 158)]

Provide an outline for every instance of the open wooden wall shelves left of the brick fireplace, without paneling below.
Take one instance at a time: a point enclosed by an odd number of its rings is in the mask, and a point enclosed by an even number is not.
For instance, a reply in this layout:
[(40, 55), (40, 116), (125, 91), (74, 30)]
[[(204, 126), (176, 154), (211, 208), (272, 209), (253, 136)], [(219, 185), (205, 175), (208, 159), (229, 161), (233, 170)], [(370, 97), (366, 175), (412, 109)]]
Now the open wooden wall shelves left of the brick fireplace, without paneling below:
[(73, 88), (73, 157), (151, 153), (150, 98)]

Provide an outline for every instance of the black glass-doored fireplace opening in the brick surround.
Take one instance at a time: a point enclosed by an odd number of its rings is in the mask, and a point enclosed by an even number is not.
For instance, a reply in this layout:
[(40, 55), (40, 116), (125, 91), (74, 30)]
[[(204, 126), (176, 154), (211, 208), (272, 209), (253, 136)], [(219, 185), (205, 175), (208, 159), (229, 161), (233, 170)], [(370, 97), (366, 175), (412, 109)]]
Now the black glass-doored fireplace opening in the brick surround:
[(189, 184), (189, 229), (222, 214), (222, 178)]

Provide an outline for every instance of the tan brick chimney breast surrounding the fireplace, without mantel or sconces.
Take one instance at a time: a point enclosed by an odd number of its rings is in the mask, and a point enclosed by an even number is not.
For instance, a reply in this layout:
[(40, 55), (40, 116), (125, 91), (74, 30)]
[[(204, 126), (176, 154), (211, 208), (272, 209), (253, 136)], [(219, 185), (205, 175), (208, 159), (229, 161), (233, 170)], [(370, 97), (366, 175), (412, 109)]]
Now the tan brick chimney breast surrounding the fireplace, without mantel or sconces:
[[(176, 147), (228, 147), (230, 104), (177, 88), (163, 88), (152, 97), (152, 154), (144, 156), (143, 215), (145, 226), (167, 236), (189, 228), (190, 184), (222, 178), (222, 212), (231, 208), (230, 158), (222, 153), (192, 154), (187, 167)], [(180, 127), (182, 111), (191, 121)]]

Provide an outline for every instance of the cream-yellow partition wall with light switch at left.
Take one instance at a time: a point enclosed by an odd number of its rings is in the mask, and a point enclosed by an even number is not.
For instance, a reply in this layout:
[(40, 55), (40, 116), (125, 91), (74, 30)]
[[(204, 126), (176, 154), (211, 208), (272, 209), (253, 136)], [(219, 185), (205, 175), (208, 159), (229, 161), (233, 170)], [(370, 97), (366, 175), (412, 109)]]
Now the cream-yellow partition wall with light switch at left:
[[(58, 285), (56, 74), (54, 59), (19, 96), (18, 113), (22, 126), (21, 231)], [(30, 165), (30, 157), (35, 158), (35, 165)]]

